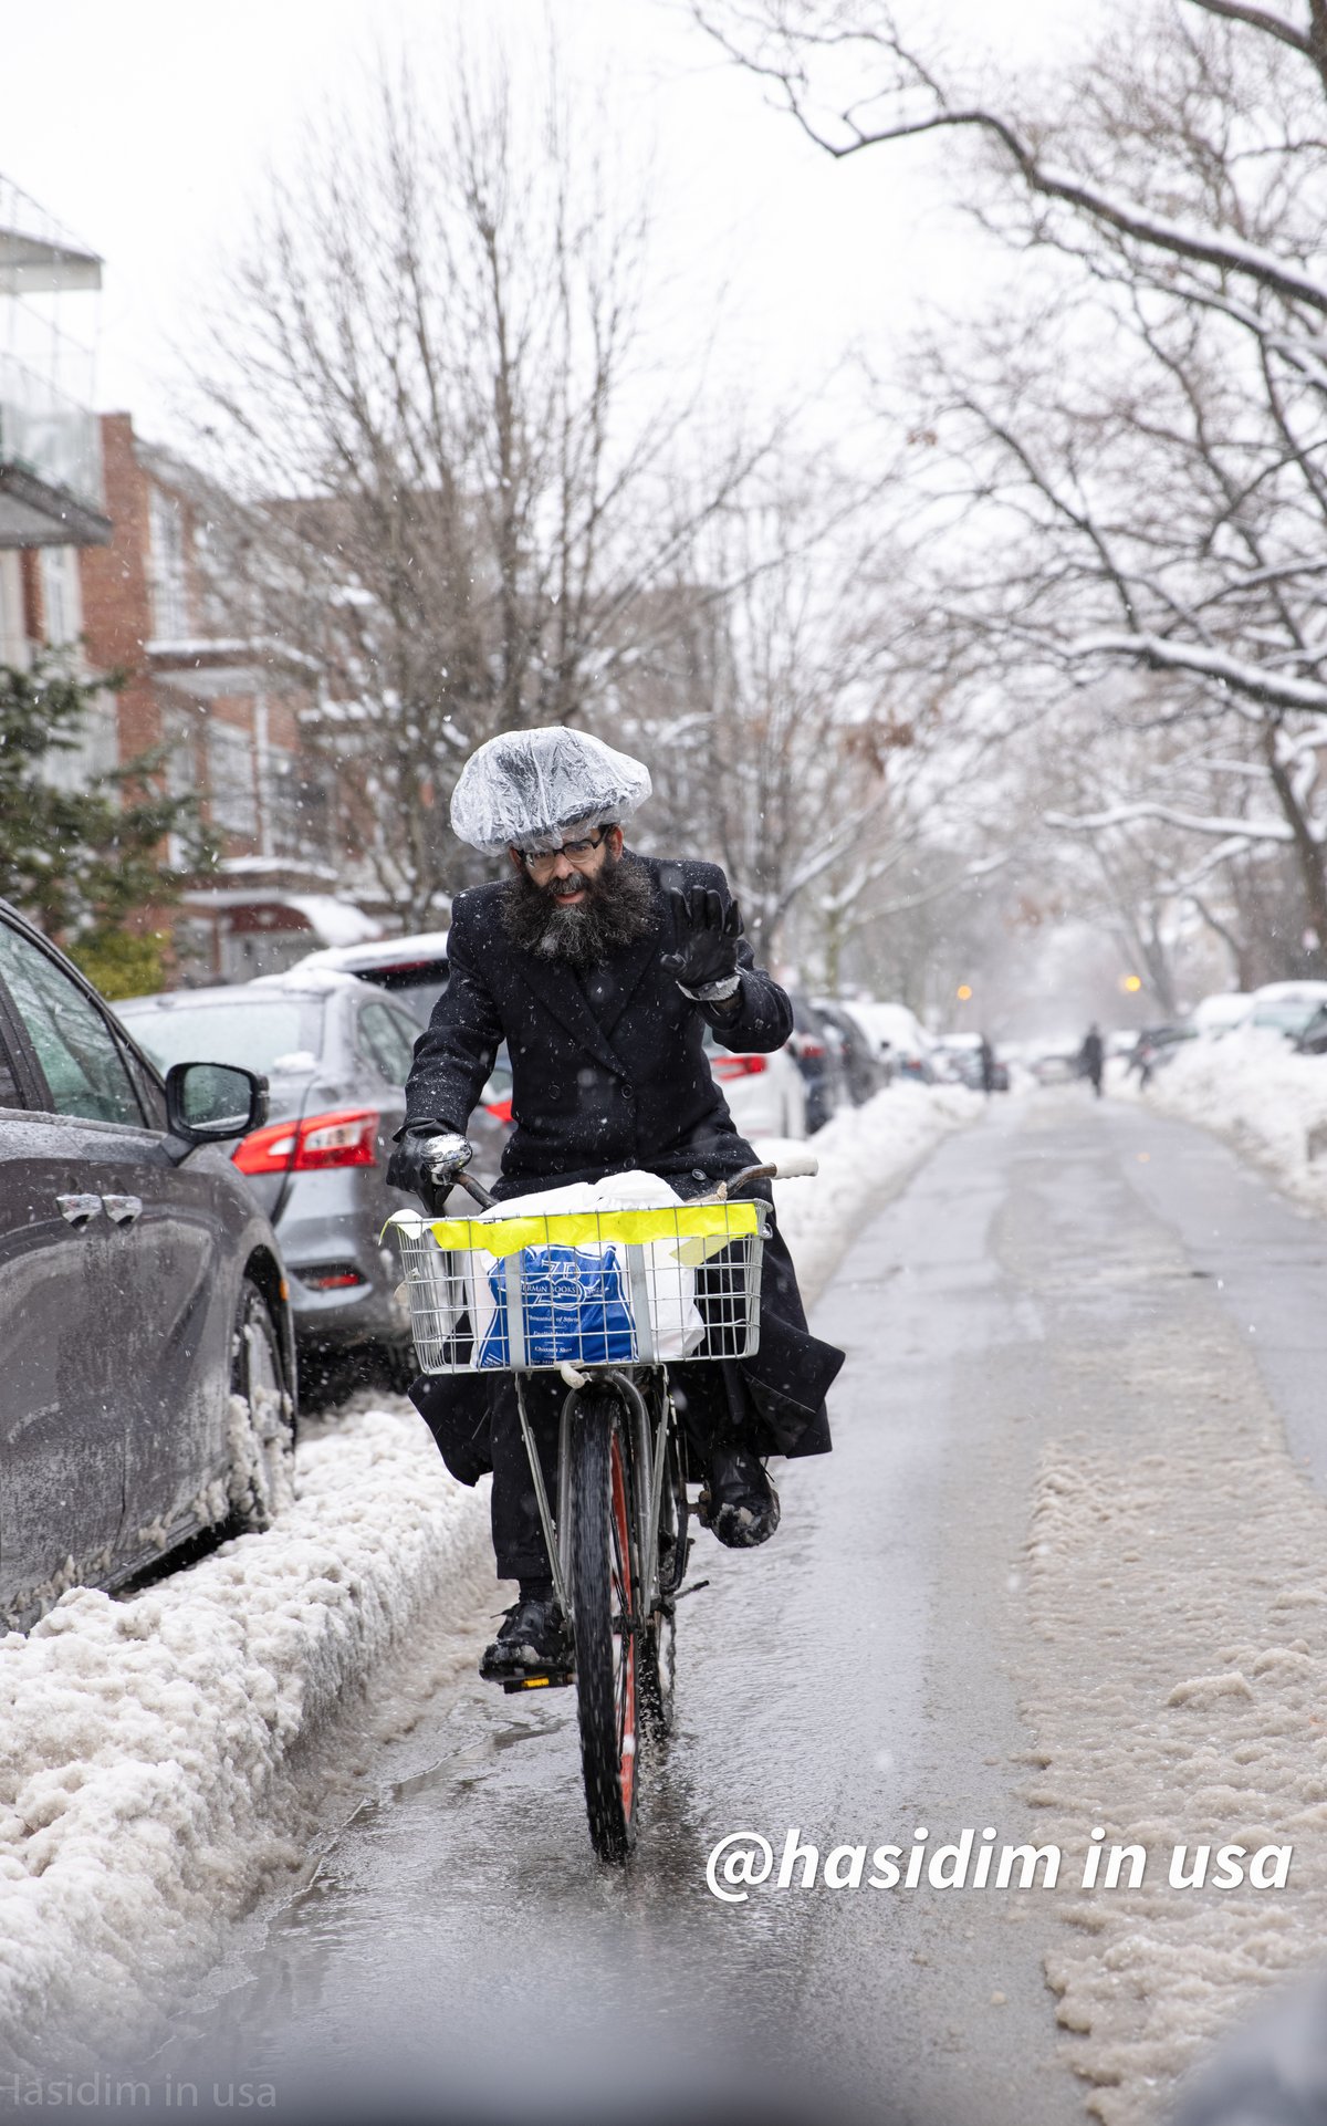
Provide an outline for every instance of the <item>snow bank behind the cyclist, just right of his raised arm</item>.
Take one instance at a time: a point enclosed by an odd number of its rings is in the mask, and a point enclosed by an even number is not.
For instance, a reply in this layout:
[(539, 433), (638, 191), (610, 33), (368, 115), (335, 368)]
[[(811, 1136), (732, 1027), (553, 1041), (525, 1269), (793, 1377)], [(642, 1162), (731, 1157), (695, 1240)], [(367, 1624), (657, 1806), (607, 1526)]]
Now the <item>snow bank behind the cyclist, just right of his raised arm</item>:
[(823, 1293), (870, 1212), (893, 1195), (940, 1137), (982, 1112), (980, 1093), (906, 1080), (876, 1093), (863, 1108), (840, 1108), (810, 1144), (757, 1140), (763, 1159), (776, 1159), (785, 1148), (810, 1150), (821, 1163), (814, 1180), (774, 1186), (778, 1229), (808, 1305)]

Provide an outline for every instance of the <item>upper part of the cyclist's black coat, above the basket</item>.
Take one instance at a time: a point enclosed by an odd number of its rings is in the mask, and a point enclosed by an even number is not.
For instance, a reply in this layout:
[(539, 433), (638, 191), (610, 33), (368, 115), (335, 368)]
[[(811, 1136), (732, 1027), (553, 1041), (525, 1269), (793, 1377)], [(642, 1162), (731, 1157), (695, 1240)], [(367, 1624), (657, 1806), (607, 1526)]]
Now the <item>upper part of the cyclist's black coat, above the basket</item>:
[(763, 1052), (793, 1031), (791, 1003), (755, 965), (746, 940), (738, 946), (738, 1010), (691, 1003), (659, 965), (678, 942), (666, 889), (719, 889), (727, 901), (727, 880), (717, 863), (629, 861), (651, 874), (655, 921), (644, 938), (581, 978), (566, 961), (510, 942), (502, 887), (474, 887), (453, 904), (451, 976), (415, 1044), (406, 1125), (464, 1131), (506, 1040), (517, 1127), (502, 1178), (519, 1188), (632, 1167), (721, 1178), (755, 1165), (706, 1061), (704, 1023), (723, 1048)]

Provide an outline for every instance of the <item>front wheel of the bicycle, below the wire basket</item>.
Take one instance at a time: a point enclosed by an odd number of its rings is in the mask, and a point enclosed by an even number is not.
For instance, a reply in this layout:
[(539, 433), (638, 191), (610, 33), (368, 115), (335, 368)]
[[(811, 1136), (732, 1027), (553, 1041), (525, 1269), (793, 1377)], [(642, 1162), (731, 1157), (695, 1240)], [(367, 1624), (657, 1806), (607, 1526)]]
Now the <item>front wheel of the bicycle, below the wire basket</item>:
[(640, 1543), (625, 1416), (612, 1388), (581, 1397), (570, 1456), (570, 1597), (585, 1807), (600, 1860), (625, 1860), (636, 1843)]

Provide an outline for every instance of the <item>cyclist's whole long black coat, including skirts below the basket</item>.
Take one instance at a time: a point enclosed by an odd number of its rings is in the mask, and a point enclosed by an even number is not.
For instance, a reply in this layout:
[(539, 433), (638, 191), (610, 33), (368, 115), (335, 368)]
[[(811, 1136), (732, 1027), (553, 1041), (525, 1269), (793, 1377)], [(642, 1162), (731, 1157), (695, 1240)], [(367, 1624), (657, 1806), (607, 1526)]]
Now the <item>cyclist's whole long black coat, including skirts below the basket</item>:
[[(502, 1154), (500, 1197), (634, 1167), (670, 1178), (681, 1195), (698, 1195), (704, 1182), (757, 1163), (715, 1084), (704, 1027), (708, 1020), (723, 1048), (780, 1048), (793, 1029), (791, 1003), (755, 965), (746, 940), (738, 946), (736, 1012), (725, 1016), (685, 997), (659, 965), (659, 955), (678, 946), (668, 889), (717, 889), (727, 901), (727, 880), (715, 863), (629, 861), (653, 880), (651, 929), (581, 978), (566, 961), (513, 944), (502, 925), (502, 887), (474, 887), (453, 904), (451, 976), (415, 1044), (406, 1123), (464, 1131), (506, 1040), (517, 1127)], [(842, 1352), (810, 1335), (787, 1246), (772, 1229), (759, 1352), (736, 1365), (678, 1371), (698, 1422), (723, 1422), (725, 1412), (746, 1405), (761, 1452), (823, 1454), (823, 1401), (840, 1365)], [(502, 1393), (502, 1376), (442, 1376), (413, 1390), (464, 1482), (487, 1467), (493, 1393)]]

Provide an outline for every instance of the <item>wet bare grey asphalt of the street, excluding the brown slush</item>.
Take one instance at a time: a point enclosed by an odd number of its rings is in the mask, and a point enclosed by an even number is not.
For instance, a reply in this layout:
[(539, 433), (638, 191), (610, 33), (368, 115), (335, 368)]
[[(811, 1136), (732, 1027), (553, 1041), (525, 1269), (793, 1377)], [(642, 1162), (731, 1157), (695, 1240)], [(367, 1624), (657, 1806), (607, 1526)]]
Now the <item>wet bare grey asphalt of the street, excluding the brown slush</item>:
[[(1036, 1896), (819, 1886), (725, 1907), (704, 1865), (738, 1828), (780, 1850), (800, 1826), (821, 1856), (906, 1847), (914, 1826), (931, 1843), (1034, 1835), (1008, 1671), (1055, 1418), (1029, 1414), (1027, 1382), (1076, 1333), (1121, 1186), (1257, 1339), (1291, 1446), (1327, 1486), (1323, 1229), (1140, 1108), (1080, 1089), (997, 1101), (880, 1212), (819, 1305), (849, 1352), (836, 1452), (783, 1465), (778, 1537), (734, 1556), (698, 1535), (691, 1573), (710, 1588), (678, 1612), (678, 1733), (649, 1769), (629, 1869), (589, 1852), (572, 1694), (464, 1677), (315, 1884), (249, 1926), (238, 1984), (194, 2018), (177, 2073), (262, 2075), (283, 2107), (317, 2090), (315, 2109), (340, 2096), (353, 2115), (385, 2115), (385, 2092), (466, 2115), (483, 2090), (625, 2117), (651, 2090), (691, 2120), (695, 2092), (774, 2088), (821, 2117), (1080, 2120), (1040, 1969), (1057, 1922)], [(1163, 1303), (1108, 1299), (1119, 1333), (1129, 1307), (1155, 1320)], [(472, 1631), (478, 1646), (487, 1618)]]

